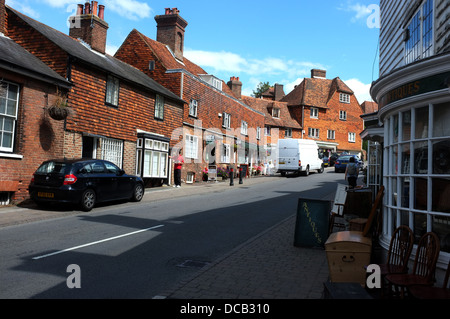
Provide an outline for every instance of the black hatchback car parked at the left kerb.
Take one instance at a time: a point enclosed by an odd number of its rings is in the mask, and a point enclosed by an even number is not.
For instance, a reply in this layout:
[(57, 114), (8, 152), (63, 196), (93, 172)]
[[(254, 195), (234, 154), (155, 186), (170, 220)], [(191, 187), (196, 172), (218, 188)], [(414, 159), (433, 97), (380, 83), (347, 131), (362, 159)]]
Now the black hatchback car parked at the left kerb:
[(96, 203), (129, 199), (140, 201), (144, 182), (104, 160), (49, 160), (39, 166), (29, 186), (38, 205), (51, 202), (80, 205), (90, 211)]

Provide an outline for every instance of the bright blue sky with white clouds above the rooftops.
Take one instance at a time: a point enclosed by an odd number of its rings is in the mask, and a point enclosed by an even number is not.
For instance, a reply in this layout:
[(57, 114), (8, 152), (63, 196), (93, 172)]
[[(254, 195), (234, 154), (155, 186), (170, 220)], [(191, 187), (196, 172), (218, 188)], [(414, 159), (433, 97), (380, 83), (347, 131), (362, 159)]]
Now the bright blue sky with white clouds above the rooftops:
[[(6, 0), (6, 4), (63, 33), (75, 13), (72, 0)], [(310, 70), (327, 70), (371, 100), (378, 78), (376, 14), (371, 0), (99, 0), (109, 24), (107, 51), (114, 54), (135, 28), (156, 39), (155, 15), (178, 8), (188, 22), (185, 56), (227, 82), (238, 76), (243, 94), (258, 83), (284, 85), (289, 93)]]

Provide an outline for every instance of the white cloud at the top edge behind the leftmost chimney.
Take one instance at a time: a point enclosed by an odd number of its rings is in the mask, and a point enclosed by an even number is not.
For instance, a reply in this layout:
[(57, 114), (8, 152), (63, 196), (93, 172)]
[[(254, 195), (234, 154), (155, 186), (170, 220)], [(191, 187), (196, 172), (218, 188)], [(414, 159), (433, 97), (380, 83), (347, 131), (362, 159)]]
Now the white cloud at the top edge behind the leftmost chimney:
[[(78, 3), (84, 4), (85, 1), (77, 1), (77, 0), (42, 0), (51, 7), (54, 8), (73, 8)], [(100, 3), (99, 3), (100, 4)], [(70, 9), (72, 10), (72, 9)], [(107, 14), (108, 10), (114, 11), (119, 15), (130, 19), (130, 20), (139, 20), (145, 19), (151, 16), (152, 9), (145, 2), (140, 2), (136, 0), (108, 0), (105, 3), (105, 14)]]

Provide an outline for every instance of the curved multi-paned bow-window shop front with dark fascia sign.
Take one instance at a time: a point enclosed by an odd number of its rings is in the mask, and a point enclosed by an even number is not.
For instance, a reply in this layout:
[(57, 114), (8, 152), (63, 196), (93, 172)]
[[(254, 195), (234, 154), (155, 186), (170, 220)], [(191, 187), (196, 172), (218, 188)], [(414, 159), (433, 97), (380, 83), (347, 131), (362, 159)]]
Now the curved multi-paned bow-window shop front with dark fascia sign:
[[(450, 53), (419, 60), (377, 80), (385, 186), (380, 243), (407, 225), (416, 244), (438, 234), (446, 265), (450, 253)], [(380, 151), (377, 151), (378, 154)]]

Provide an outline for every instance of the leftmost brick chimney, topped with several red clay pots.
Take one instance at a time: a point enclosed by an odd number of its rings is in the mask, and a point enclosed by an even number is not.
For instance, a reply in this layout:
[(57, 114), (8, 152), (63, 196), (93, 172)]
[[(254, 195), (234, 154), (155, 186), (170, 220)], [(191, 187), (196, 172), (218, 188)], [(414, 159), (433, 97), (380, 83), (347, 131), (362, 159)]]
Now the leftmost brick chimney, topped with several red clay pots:
[(98, 5), (97, 1), (79, 4), (77, 14), (69, 18), (69, 35), (81, 39), (95, 51), (102, 54), (106, 52), (106, 33), (108, 23), (104, 20), (105, 6)]

